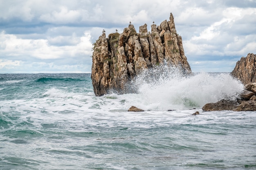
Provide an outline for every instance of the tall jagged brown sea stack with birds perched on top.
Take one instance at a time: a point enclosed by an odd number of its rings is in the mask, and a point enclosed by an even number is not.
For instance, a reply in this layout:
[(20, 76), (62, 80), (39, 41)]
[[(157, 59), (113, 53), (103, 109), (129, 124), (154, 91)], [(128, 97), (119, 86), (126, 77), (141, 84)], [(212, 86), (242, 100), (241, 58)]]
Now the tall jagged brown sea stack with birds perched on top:
[(164, 62), (179, 67), (184, 73), (191, 72), (172, 13), (169, 21), (164, 20), (160, 26), (151, 25), (151, 32), (146, 24), (139, 27), (139, 33), (131, 24), (123, 33), (112, 33), (108, 38), (103, 32), (93, 47), (91, 78), (94, 93), (102, 96), (110, 90), (130, 92), (130, 80), (143, 69)]

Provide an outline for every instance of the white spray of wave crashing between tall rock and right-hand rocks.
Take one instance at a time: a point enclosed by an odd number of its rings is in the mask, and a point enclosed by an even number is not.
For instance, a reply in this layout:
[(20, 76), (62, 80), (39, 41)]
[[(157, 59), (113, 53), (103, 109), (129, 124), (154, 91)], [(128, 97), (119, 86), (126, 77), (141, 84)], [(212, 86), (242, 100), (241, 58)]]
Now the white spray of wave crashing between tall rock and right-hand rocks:
[(183, 74), (180, 69), (161, 65), (144, 70), (132, 82), (139, 105), (146, 110), (202, 108), (221, 99), (236, 99), (243, 85), (229, 73)]

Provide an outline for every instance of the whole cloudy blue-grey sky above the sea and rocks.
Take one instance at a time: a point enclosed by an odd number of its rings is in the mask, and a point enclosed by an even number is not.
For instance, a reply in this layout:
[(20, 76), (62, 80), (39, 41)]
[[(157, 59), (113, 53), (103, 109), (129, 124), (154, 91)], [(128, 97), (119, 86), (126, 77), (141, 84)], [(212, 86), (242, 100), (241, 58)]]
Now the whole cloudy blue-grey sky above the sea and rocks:
[(90, 73), (92, 43), (173, 13), (192, 72), (256, 54), (256, 0), (0, 0), (0, 74)]

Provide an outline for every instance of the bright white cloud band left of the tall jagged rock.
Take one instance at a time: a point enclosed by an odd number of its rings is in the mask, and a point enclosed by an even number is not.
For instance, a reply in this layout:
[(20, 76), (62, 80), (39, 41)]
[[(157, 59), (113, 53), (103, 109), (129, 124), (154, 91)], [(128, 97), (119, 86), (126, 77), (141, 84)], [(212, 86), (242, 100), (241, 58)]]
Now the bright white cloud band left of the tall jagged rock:
[[(76, 40), (75, 45), (54, 46), (49, 45), (47, 39), (20, 39), (12, 34), (0, 33), (0, 52), (5, 56), (27, 57), (39, 59), (57, 59), (62, 57), (73, 57), (76, 55), (90, 55), (92, 42), (90, 33), (85, 33)], [(56, 38), (58, 39), (58, 38)], [(67, 39), (66, 39), (67, 40)]]

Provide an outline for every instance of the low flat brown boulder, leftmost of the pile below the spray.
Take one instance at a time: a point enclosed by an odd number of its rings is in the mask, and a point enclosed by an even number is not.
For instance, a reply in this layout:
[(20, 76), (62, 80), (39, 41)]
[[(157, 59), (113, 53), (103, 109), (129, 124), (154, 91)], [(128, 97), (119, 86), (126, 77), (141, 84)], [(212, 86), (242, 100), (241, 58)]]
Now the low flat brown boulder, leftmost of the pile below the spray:
[(237, 101), (222, 99), (216, 103), (207, 103), (202, 107), (203, 111), (236, 110), (239, 106)]

